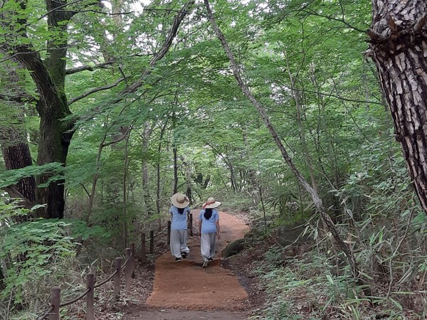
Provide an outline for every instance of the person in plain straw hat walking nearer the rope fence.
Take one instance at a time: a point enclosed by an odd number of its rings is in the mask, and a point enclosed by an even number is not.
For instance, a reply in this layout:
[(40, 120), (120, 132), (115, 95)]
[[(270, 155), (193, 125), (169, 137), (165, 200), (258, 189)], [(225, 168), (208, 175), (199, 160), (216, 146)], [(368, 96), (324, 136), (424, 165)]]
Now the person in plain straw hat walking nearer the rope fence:
[(172, 206), (169, 208), (171, 214), (171, 253), (175, 262), (186, 258), (190, 250), (187, 247), (187, 214), (190, 212), (189, 198), (182, 193), (175, 193), (171, 197)]

